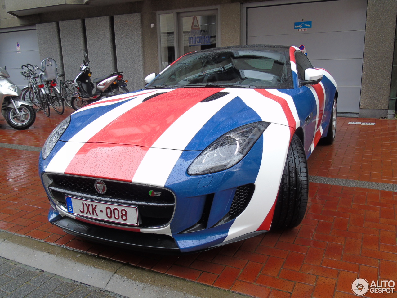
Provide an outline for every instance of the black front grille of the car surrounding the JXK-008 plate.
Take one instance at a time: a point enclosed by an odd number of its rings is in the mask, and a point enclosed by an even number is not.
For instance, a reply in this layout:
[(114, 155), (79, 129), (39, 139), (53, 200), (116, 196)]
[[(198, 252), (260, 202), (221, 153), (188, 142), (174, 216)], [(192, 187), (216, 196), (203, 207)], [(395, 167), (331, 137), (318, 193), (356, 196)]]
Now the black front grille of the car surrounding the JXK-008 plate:
[[(48, 190), (56, 204), (66, 211), (65, 195), (93, 201), (117, 203), (138, 207), (139, 226), (138, 228), (154, 228), (168, 224), (175, 209), (175, 196), (170, 190), (154, 186), (134, 184), (115, 180), (100, 179), (106, 184), (106, 192), (99, 194), (94, 188), (98, 178), (72, 176), (64, 174), (44, 174), (52, 182)], [(161, 193), (150, 196), (150, 191)], [(89, 219), (90, 221), (101, 220)], [(109, 223), (115, 225), (115, 223)], [(118, 226), (128, 226), (116, 224)]]

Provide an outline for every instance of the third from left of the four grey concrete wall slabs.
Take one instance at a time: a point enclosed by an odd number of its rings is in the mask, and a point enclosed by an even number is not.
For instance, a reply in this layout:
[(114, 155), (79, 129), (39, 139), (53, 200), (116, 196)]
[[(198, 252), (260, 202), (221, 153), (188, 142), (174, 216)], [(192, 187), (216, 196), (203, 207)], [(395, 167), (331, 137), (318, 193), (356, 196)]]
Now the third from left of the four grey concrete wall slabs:
[(88, 57), (94, 78), (117, 71), (112, 27), (109, 16), (85, 19)]

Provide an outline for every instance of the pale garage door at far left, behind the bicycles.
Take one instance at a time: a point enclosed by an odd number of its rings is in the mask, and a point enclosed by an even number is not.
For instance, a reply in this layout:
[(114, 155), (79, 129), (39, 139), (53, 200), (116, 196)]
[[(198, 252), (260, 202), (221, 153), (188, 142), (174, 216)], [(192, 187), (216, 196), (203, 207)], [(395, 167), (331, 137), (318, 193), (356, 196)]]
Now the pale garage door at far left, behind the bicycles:
[(41, 62), (35, 28), (36, 26), (8, 28), (0, 31), (0, 67), (7, 66), (11, 81), (19, 88), (27, 85), (27, 81), (20, 74), (21, 65), (40, 65)]

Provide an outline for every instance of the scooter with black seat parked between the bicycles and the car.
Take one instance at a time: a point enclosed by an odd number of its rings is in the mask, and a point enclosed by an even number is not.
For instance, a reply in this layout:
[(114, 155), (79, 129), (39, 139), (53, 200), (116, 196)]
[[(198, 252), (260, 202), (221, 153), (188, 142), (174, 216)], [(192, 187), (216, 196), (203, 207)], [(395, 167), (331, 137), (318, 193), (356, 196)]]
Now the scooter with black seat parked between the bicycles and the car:
[[(84, 58), (87, 58), (87, 53), (84, 52)], [(127, 80), (123, 80), (123, 72), (114, 72), (112, 74), (98, 77), (91, 82), (90, 62), (83, 59), (83, 64), (80, 65), (80, 73), (73, 82), (73, 87), (77, 92), (71, 95), (71, 106), (78, 110), (87, 104), (100, 100), (102, 97), (111, 97), (122, 94), (119, 87), (125, 93), (128, 93)], [(95, 92), (94, 92), (95, 89)]]

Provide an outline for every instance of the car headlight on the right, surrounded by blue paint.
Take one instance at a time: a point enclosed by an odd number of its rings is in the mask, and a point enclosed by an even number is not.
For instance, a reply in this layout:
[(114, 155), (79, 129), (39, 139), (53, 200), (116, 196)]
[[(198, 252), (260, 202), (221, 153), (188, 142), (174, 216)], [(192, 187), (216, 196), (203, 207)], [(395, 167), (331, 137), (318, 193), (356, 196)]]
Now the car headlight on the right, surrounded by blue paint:
[(187, 173), (202, 175), (231, 168), (247, 155), (269, 124), (254, 122), (220, 136), (196, 157)]

